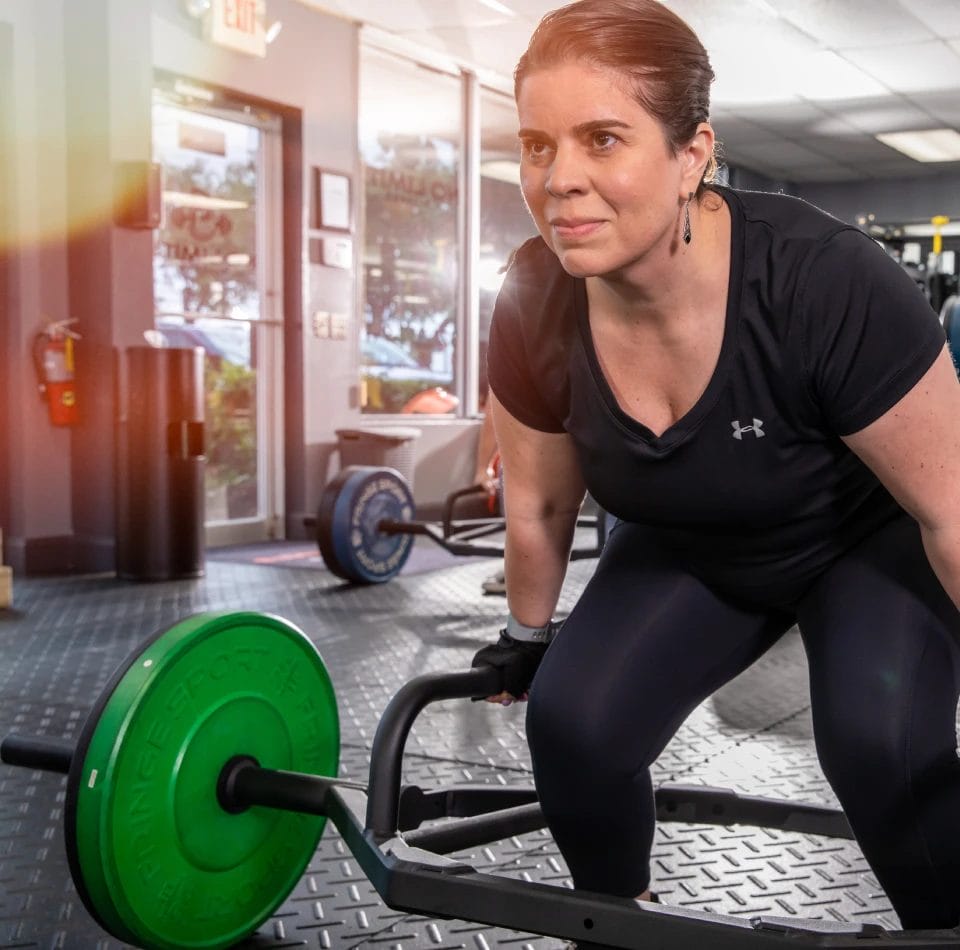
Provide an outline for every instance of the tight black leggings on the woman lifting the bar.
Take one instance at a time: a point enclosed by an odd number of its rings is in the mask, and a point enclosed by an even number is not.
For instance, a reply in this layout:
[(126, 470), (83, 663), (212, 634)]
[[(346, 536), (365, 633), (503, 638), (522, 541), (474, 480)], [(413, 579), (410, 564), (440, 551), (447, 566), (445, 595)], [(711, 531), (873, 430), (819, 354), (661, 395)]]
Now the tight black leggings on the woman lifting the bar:
[(899, 518), (789, 612), (737, 606), (621, 524), (547, 651), (527, 734), (577, 887), (650, 880), (648, 768), (686, 716), (799, 623), (823, 770), (905, 928), (960, 922), (960, 612)]

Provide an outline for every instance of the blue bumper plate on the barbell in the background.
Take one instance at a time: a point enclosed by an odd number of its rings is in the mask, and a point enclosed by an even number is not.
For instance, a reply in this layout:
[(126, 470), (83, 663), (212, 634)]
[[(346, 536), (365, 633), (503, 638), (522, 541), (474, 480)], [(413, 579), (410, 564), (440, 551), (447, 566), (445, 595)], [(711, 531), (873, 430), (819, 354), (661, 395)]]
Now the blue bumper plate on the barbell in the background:
[(338, 568), (330, 569), (354, 584), (382, 584), (400, 572), (413, 547), (412, 534), (387, 534), (379, 528), (381, 521), (413, 520), (410, 487), (392, 468), (353, 465), (341, 475), (324, 542)]

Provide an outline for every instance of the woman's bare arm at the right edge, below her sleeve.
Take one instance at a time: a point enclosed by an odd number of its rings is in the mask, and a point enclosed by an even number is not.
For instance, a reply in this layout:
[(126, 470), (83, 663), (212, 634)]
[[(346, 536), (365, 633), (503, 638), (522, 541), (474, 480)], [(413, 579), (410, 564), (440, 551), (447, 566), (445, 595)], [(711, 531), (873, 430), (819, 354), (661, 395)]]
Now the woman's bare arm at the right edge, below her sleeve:
[(960, 381), (947, 349), (893, 408), (843, 441), (919, 523), (960, 609)]

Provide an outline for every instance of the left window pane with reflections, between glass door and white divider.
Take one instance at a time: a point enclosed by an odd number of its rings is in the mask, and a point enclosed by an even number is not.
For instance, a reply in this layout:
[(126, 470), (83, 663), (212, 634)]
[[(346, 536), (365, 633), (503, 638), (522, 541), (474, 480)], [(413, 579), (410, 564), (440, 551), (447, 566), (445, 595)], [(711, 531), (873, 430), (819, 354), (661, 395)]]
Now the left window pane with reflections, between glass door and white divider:
[(362, 409), (455, 412), (460, 81), (369, 47), (360, 77)]

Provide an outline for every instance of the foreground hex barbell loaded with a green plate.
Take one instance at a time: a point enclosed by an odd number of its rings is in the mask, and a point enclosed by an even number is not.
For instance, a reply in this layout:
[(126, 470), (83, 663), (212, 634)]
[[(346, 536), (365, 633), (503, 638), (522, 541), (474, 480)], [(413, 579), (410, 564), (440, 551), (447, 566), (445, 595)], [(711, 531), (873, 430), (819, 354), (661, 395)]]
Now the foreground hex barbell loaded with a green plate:
[[(955, 931), (886, 931), (644, 905), (476, 871), (444, 855), (545, 826), (532, 789), (401, 787), (403, 746), (430, 702), (499, 691), (492, 668), (424, 674), (388, 704), (366, 788), (337, 779), (330, 677), (296, 627), (256, 613), (201, 614), (119, 668), (75, 747), (8, 736), (0, 758), (65, 772), (65, 841), (77, 891), (114, 936), (148, 948), (227, 947), (292, 892), (327, 818), (384, 902), (613, 947), (663, 950), (956, 947)], [(752, 824), (852, 837), (835, 809), (662, 787), (662, 821)], [(453, 818), (427, 828), (428, 819)]]

